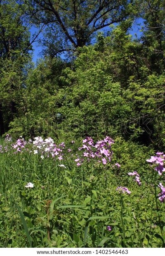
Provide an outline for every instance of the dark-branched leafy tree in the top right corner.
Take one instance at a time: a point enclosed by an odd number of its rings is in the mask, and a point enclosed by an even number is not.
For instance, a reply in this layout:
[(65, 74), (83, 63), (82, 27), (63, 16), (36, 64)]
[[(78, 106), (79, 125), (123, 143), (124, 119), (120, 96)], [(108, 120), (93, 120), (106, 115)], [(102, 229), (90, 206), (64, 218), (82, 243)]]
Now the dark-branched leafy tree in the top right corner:
[(165, 69), (165, 2), (145, 0), (141, 17), (144, 19), (144, 26), (140, 41), (150, 62), (149, 68), (161, 74)]

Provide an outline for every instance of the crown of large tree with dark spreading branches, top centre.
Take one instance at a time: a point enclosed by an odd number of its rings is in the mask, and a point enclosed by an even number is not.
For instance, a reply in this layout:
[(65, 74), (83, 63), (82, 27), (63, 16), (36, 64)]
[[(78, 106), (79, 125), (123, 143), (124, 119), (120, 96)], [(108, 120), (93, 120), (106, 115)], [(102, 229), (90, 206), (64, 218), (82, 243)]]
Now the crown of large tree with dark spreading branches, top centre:
[(129, 0), (33, 0), (33, 5), (34, 22), (47, 25), (43, 45), (52, 56), (87, 45), (97, 31), (127, 19), (136, 9)]

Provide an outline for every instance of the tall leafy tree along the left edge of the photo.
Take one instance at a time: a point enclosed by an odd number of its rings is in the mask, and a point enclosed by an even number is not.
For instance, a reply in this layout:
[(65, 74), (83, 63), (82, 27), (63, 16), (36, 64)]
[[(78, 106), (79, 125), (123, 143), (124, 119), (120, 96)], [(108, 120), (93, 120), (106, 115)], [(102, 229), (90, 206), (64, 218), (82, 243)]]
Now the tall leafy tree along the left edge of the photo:
[(31, 59), (26, 10), (22, 0), (0, 0), (0, 135), (14, 118)]

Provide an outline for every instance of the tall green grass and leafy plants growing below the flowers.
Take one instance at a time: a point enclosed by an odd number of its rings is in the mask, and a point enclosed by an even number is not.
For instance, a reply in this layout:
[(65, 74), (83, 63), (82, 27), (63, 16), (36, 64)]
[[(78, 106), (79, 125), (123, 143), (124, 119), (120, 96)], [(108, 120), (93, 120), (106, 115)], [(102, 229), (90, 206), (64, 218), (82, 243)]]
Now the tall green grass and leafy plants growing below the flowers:
[[(59, 161), (15, 151), (0, 153), (0, 247), (165, 246), (165, 207), (157, 198), (165, 176), (156, 173), (154, 182), (147, 148), (116, 142), (111, 163), (81, 166), (77, 152), (64, 150)], [(120, 168), (112, 168), (116, 162)], [(139, 173), (141, 186), (130, 171)], [(118, 186), (132, 193), (120, 194)]]

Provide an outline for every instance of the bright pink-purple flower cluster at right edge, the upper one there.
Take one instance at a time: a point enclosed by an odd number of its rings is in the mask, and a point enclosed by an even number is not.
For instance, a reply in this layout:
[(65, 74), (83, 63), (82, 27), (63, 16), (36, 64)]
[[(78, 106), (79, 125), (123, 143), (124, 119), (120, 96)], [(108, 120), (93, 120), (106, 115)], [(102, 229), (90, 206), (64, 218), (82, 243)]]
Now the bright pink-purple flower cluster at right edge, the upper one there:
[(148, 163), (158, 164), (155, 170), (158, 171), (160, 175), (162, 175), (162, 172), (165, 171), (165, 168), (163, 167), (163, 161), (165, 161), (165, 154), (163, 152), (157, 152), (156, 155), (157, 156), (151, 156), (151, 159), (147, 159), (146, 161)]

